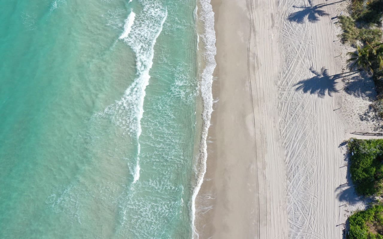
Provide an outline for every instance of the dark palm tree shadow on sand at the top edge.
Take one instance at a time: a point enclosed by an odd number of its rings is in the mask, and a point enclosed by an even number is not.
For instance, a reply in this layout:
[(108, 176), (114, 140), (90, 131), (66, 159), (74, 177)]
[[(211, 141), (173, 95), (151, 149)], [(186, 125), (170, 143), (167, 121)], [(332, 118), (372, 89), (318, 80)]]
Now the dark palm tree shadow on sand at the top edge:
[[(343, 1), (345, 1), (345, 0), (342, 0), (342, 1), (339, 1), (339, 2), (343, 2)], [(328, 16), (329, 15), (328, 13), (326, 13), (326, 11), (324, 11), (324, 10), (322, 10), (320, 8), (328, 6), (328, 5), (332, 5), (332, 4), (335, 4), (335, 3), (339, 3), (339, 2), (327, 3), (327, 4), (322, 3), (322, 4), (318, 4), (318, 5), (312, 6), (311, 1), (309, 0), (309, 3), (310, 3), (309, 7), (296, 7), (296, 6), (293, 6), (295, 8), (302, 8), (303, 10), (297, 11), (295, 13), (291, 13), (288, 16), (288, 20), (302, 24), (302, 23), (304, 23), (304, 20), (307, 17), (309, 22), (311, 22), (311, 23), (317, 22), (317, 21), (319, 21), (319, 17), (320, 16)]]

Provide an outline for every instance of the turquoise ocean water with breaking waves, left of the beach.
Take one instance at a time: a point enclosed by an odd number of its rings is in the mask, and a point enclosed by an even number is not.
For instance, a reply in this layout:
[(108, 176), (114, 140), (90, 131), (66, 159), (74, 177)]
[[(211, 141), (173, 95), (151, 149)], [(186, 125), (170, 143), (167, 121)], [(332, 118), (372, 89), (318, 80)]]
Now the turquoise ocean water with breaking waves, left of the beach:
[(0, 0), (0, 238), (193, 237), (199, 4)]

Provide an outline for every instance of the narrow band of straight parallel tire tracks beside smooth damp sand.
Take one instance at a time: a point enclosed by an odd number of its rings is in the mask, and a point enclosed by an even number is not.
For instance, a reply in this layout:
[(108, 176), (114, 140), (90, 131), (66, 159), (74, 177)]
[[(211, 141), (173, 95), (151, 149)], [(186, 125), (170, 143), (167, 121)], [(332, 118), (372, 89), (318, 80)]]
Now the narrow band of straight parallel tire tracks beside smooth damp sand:
[[(286, 169), (278, 127), (278, 0), (246, 0), (250, 18), (248, 75), (253, 101), (259, 225), (257, 238), (288, 237)], [(271, 35), (271, 39), (270, 39)]]

